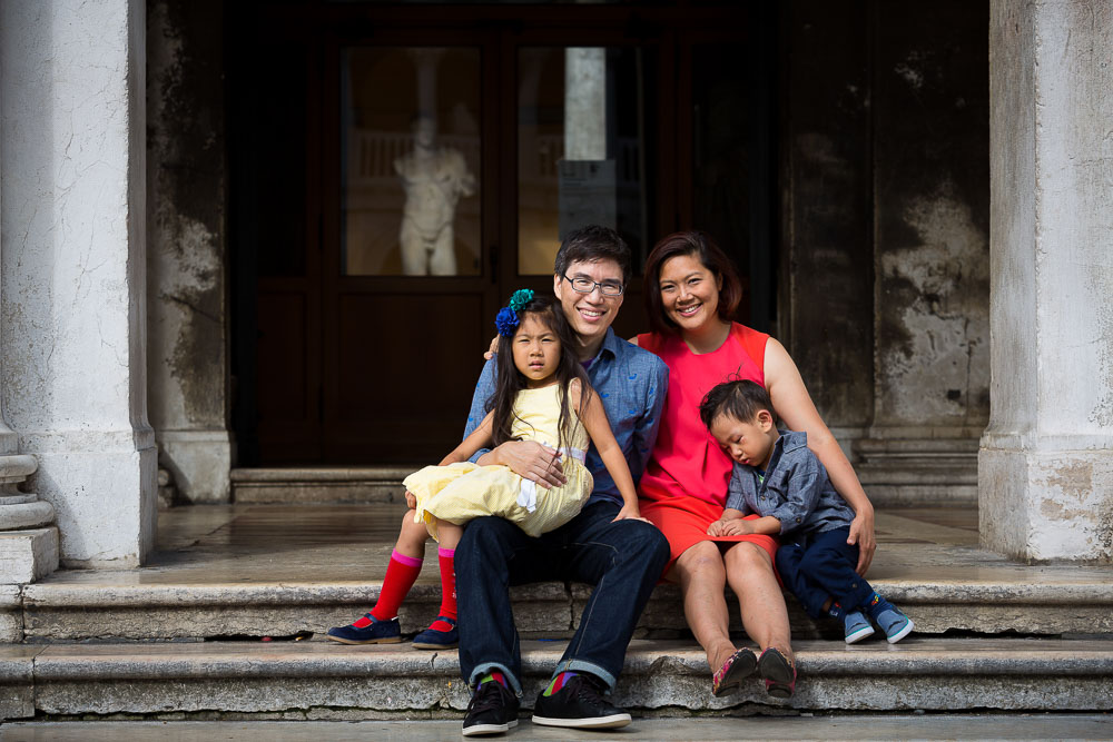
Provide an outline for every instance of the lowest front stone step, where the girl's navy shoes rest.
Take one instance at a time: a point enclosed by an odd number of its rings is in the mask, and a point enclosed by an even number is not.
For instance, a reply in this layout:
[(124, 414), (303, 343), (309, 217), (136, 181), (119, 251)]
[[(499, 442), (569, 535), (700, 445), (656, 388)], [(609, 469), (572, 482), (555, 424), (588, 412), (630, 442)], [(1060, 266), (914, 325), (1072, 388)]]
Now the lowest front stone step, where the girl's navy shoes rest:
[[(563, 643), (522, 645), (530, 709)], [(947, 640), (897, 645), (801, 641), (790, 701), (755, 679), (710, 693), (702, 651), (690, 642), (631, 643), (614, 701), (638, 714), (801, 711), (1113, 709), (1113, 641)], [(145, 643), (0, 647), (6, 719), (88, 714), (183, 718), (459, 718), (467, 704), (455, 651), (406, 645)]]

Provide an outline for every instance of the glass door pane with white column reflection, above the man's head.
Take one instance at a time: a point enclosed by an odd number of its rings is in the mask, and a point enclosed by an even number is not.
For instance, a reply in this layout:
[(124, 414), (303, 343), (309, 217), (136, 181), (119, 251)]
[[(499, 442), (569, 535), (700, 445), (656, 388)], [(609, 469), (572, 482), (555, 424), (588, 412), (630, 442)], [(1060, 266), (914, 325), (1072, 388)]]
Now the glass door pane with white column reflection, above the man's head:
[[(656, 169), (653, 52), (526, 47), (518, 53), (518, 273), (551, 275), (568, 233), (617, 229), (649, 243)], [(640, 265), (640, 260), (639, 260)]]

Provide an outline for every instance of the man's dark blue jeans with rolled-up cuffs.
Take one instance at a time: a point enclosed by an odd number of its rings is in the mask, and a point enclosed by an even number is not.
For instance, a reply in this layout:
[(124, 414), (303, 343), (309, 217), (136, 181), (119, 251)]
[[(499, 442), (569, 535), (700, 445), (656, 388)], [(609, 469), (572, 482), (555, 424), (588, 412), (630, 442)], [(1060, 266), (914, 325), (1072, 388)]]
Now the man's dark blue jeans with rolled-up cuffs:
[(469, 685), (493, 670), (522, 692), (522, 655), (511, 585), (560, 580), (594, 585), (555, 672), (589, 672), (613, 689), (627, 644), (669, 558), (654, 526), (619, 521), (619, 506), (591, 503), (560, 528), (532, 538), (500, 517), (467, 524), (456, 546), (460, 674)]

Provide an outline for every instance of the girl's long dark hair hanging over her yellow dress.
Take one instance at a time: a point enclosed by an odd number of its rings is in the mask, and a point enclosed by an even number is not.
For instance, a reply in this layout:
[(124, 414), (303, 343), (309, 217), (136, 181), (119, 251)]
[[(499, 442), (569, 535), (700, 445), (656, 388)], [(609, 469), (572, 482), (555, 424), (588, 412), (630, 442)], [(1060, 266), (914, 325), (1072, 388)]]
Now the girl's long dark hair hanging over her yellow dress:
[[(571, 437), (571, 415), (569, 414), (568, 387), (573, 378), (580, 379), (580, 409), (577, 414), (582, 414), (587, 408), (588, 399), (591, 398), (591, 382), (588, 374), (575, 357), (575, 337), (572, 327), (564, 317), (564, 310), (555, 299), (543, 296), (535, 296), (524, 307), (518, 311), (520, 321), (525, 320), (526, 315), (534, 316), (542, 325), (552, 330), (560, 339), (560, 362), (556, 365), (556, 383), (560, 384), (560, 419), (558, 421), (559, 439), (558, 448), (563, 448), (565, 441)], [(514, 366), (514, 338), (505, 335), (499, 336), (499, 355), (495, 362), (498, 378), (495, 379), (494, 394), (486, 400), (486, 412), (494, 410), (491, 421), (494, 437), (494, 445), (513, 441), (511, 425), (514, 423), (514, 399), (518, 393), (529, 386), (525, 376)]]

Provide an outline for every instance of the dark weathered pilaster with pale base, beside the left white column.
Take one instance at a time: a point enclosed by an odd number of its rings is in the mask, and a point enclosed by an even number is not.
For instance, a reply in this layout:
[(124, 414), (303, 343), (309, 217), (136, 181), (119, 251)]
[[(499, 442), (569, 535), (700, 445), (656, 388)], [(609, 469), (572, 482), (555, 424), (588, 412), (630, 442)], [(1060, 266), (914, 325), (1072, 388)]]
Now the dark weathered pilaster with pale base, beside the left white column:
[(223, 9), (147, 0), (150, 419), (191, 502), (228, 497)]

